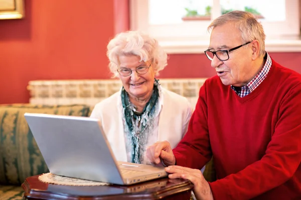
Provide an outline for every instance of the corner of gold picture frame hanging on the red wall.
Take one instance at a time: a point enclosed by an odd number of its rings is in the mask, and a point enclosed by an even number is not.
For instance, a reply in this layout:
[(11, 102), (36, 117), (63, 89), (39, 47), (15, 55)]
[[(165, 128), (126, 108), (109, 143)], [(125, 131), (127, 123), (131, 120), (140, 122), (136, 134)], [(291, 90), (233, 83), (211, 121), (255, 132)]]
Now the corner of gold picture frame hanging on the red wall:
[(17, 19), (24, 16), (24, 0), (0, 0), (0, 19)]

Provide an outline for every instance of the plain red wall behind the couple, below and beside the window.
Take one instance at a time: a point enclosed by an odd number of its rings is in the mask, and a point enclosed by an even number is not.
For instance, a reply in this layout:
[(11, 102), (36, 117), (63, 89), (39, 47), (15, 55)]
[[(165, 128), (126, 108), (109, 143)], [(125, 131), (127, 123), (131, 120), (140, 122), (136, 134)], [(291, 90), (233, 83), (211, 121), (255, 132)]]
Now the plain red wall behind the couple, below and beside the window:
[[(25, 0), (24, 19), (0, 20), (0, 103), (28, 102), (28, 81), (109, 78), (106, 44), (128, 25), (128, 0)], [(301, 72), (301, 52), (270, 53)], [(160, 77), (214, 75), (204, 54), (172, 54)]]

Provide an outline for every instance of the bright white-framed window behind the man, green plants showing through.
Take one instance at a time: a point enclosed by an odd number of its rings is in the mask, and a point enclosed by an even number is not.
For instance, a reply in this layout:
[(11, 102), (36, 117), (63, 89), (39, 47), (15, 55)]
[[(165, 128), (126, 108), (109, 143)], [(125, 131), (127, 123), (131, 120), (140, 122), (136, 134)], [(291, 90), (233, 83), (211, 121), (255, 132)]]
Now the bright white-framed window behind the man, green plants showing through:
[(168, 53), (203, 53), (212, 19), (239, 9), (258, 16), (268, 51), (301, 51), (300, 1), (130, 0), (130, 27), (157, 38)]

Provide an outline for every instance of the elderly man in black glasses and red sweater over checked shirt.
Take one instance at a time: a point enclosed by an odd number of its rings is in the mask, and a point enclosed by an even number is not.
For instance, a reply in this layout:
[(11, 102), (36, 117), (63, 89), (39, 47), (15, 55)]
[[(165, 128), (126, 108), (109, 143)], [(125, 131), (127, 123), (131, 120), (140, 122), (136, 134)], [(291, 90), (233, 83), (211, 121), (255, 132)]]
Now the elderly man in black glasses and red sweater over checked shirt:
[[(200, 89), (185, 137), (176, 148), (146, 150), (170, 178), (191, 180), (198, 199), (301, 198), (301, 75), (265, 51), (254, 16), (232, 11), (208, 27), (205, 51), (217, 75)], [(213, 156), (217, 180), (200, 168)]]

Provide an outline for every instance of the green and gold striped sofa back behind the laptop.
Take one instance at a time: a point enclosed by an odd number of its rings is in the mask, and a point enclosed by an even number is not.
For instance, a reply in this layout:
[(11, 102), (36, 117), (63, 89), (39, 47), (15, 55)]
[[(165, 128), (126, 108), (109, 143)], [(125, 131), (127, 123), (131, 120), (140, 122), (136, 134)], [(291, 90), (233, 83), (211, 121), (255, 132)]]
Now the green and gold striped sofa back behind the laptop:
[(35, 139), (24, 117), (25, 112), (87, 116), (87, 105), (0, 106), (0, 184), (20, 185), (25, 178), (48, 172)]

